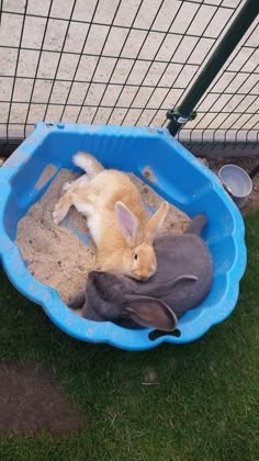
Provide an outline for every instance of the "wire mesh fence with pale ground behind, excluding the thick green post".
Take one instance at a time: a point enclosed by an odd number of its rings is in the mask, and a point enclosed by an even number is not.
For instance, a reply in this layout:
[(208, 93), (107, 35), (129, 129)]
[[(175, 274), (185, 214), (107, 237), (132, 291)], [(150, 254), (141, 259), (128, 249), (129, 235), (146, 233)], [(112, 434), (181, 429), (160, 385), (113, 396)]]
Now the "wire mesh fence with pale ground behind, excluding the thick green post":
[[(0, 139), (38, 120), (165, 126), (245, 0), (0, 0)], [(187, 140), (256, 140), (259, 25), (204, 94)]]

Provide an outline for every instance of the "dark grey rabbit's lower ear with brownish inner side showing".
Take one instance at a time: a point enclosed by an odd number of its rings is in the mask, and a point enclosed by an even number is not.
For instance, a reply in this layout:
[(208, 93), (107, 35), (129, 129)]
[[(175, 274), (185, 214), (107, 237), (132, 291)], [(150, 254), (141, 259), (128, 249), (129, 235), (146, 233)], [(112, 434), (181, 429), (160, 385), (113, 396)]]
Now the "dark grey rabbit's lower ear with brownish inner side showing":
[(177, 316), (162, 301), (138, 295), (127, 295), (125, 297), (124, 308), (137, 325), (164, 331), (176, 329)]

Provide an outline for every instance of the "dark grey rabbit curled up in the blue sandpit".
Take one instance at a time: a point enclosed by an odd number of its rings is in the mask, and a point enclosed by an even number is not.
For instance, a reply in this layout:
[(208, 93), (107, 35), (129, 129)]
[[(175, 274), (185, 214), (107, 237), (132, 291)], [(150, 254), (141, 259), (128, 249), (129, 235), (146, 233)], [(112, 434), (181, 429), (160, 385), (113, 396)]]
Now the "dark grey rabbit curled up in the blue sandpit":
[(157, 271), (147, 282), (93, 271), (69, 307), (82, 308), (82, 316), (91, 321), (172, 331), (178, 318), (198, 306), (212, 286), (212, 257), (200, 237), (206, 222), (201, 214), (182, 235), (156, 238)]

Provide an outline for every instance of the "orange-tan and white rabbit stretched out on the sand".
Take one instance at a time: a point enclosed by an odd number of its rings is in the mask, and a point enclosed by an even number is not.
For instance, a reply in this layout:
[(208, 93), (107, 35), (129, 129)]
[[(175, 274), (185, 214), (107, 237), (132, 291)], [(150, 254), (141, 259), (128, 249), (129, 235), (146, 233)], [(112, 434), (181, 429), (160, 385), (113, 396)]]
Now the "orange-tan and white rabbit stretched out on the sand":
[(59, 224), (74, 205), (87, 216), (102, 270), (121, 272), (137, 280), (149, 279), (157, 266), (153, 241), (167, 215), (168, 203), (162, 202), (150, 217), (126, 173), (104, 169), (94, 157), (85, 153), (78, 153), (74, 164), (86, 175), (65, 184), (66, 192), (53, 212), (54, 223)]

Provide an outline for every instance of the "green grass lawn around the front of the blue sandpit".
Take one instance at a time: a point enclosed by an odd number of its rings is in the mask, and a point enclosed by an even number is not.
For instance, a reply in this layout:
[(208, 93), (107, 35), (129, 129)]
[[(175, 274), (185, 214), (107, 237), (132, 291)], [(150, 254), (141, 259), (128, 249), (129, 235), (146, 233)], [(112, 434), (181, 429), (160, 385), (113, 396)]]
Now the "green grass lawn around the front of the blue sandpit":
[[(0, 359), (34, 361), (89, 419), (74, 438), (0, 436), (0, 460), (259, 459), (259, 213), (233, 315), (202, 340), (124, 352), (74, 340), (0, 273)], [(158, 385), (143, 385), (148, 368)], [(18, 383), (19, 385), (19, 383)]]

